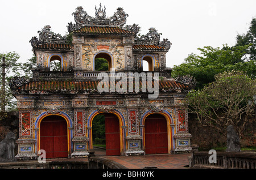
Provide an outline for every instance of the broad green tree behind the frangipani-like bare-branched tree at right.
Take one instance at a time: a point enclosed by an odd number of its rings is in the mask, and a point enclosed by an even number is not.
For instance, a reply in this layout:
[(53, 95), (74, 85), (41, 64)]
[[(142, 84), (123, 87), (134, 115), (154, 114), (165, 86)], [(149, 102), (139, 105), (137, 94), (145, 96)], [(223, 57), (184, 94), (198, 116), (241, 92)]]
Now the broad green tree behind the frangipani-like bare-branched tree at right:
[(229, 47), (223, 45), (222, 48), (205, 46), (198, 48), (201, 55), (190, 54), (181, 65), (174, 66), (172, 76), (190, 75), (195, 78), (196, 89), (203, 88), (206, 84), (214, 81), (214, 76), (220, 72), (230, 70), (246, 71), (252, 78), (256, 76), (256, 63), (245, 62), (242, 57), (250, 45)]

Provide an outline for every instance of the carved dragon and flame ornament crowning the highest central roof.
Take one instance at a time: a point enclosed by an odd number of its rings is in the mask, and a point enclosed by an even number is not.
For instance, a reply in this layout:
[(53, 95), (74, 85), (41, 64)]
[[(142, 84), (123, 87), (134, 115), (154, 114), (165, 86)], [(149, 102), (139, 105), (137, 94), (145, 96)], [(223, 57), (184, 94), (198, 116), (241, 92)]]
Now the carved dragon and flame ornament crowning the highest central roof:
[(122, 7), (118, 7), (113, 16), (106, 17), (106, 7), (104, 6), (103, 9), (101, 3), (100, 8), (95, 6), (95, 10), (96, 17), (93, 18), (92, 16), (89, 16), (86, 11), (84, 11), (82, 6), (77, 7), (76, 11), (72, 13), (76, 24), (68, 23), (68, 31), (76, 31), (85, 26), (123, 27), (123, 25), (126, 23), (126, 18), (129, 16), (125, 13)]

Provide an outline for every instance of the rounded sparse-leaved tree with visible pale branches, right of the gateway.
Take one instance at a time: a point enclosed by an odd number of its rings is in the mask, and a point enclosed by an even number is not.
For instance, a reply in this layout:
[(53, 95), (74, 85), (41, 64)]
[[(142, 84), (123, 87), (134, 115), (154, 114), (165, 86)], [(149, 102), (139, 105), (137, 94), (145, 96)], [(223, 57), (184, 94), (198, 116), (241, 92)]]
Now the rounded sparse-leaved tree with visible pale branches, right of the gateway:
[(213, 83), (187, 95), (189, 113), (195, 113), (203, 126), (225, 133), (233, 125), (238, 134), (254, 117), (254, 105), (247, 102), (256, 94), (256, 79), (242, 71), (222, 72)]

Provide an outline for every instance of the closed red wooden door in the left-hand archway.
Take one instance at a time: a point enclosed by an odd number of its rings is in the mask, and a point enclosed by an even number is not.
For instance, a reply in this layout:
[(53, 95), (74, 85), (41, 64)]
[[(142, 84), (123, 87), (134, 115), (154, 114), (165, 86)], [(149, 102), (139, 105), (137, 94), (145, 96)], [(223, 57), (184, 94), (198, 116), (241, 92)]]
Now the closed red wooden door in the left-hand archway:
[(59, 115), (51, 115), (40, 124), (40, 149), (46, 158), (68, 157), (67, 122)]

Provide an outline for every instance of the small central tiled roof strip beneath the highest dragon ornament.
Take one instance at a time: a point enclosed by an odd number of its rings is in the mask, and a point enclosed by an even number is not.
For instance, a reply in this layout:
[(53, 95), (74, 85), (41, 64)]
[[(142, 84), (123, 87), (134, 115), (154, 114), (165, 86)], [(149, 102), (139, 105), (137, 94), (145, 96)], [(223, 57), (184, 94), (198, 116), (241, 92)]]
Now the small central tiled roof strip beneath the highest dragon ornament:
[(134, 32), (121, 29), (119, 27), (83, 27), (73, 33), (83, 33), (89, 35), (133, 35)]

